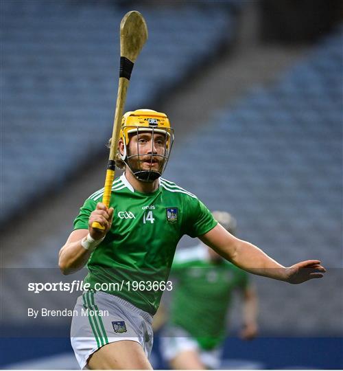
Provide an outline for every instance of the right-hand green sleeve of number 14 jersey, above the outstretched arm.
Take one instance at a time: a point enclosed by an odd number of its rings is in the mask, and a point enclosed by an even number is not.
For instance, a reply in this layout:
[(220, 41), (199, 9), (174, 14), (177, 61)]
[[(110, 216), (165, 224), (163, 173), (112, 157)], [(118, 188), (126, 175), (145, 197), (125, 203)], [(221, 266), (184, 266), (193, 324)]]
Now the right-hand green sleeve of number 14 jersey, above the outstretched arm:
[(192, 199), (187, 209), (185, 234), (188, 236), (192, 238), (201, 236), (217, 225), (209, 209), (199, 199)]

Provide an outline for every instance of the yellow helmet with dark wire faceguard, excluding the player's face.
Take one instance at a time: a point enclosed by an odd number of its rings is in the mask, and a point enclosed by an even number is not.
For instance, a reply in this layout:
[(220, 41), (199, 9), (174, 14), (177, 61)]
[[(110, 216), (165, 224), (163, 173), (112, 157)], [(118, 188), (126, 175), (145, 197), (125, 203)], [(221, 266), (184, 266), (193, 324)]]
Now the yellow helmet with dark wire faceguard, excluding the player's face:
[[(146, 155), (151, 157), (151, 166), (148, 170), (143, 170), (143, 168), (139, 168), (139, 166), (137, 168), (137, 165), (135, 168), (133, 166), (132, 161), (134, 159), (140, 161), (140, 158), (143, 155), (142, 153), (139, 153), (139, 150), (137, 151), (137, 155), (128, 153), (130, 135), (139, 135), (139, 133), (142, 132), (151, 132), (152, 134), (161, 133), (165, 135), (165, 150), (162, 155), (153, 153), (153, 151), (151, 151), (150, 155), (145, 154), (145, 157)], [(119, 155), (138, 179), (141, 181), (154, 181), (154, 179), (161, 177), (163, 171), (165, 170), (165, 166), (167, 165), (171, 146), (174, 142), (174, 131), (170, 127), (169, 119), (165, 113), (157, 112), (152, 109), (137, 109), (136, 111), (126, 112), (121, 119), (119, 137), (123, 139), (124, 144), (124, 152), (119, 153)], [(156, 160), (158, 157), (161, 161), (161, 168), (156, 170), (156, 168), (152, 168), (152, 163), (154, 159)]]

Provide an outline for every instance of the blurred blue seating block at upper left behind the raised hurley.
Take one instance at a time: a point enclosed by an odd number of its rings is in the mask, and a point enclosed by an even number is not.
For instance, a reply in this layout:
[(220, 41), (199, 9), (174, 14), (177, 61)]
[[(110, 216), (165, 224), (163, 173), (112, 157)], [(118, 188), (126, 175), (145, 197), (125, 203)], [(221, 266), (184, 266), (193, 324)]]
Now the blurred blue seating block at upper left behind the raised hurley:
[[(1, 1), (2, 210), (58, 188), (104, 148), (125, 12), (110, 2)], [(128, 109), (167, 93), (233, 35), (234, 16), (221, 8), (142, 12), (149, 42), (132, 74)]]

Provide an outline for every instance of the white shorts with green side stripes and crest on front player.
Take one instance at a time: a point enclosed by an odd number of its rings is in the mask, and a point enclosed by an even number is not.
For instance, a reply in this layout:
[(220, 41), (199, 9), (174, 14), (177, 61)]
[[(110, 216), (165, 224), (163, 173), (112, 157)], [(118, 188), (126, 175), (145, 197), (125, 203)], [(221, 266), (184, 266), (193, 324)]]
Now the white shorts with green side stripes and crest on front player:
[(152, 315), (115, 295), (87, 291), (75, 304), (71, 322), (71, 346), (80, 368), (102, 346), (121, 340), (137, 341), (150, 356)]

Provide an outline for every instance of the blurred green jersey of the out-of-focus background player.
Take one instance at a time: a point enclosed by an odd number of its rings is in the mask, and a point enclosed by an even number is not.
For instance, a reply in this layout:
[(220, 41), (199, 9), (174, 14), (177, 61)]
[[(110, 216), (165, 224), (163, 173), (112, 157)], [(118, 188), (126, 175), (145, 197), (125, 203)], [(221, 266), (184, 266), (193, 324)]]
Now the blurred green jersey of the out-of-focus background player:
[(171, 324), (187, 330), (202, 349), (218, 346), (226, 335), (226, 313), (233, 289), (245, 289), (248, 274), (230, 262), (213, 262), (199, 245), (176, 253), (171, 276), (178, 282), (171, 302)]

